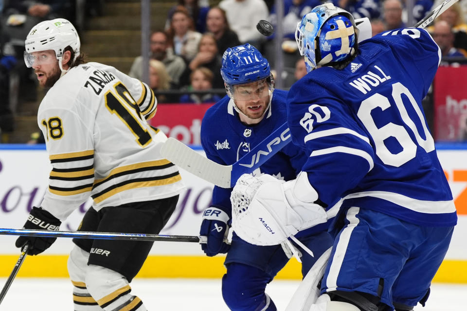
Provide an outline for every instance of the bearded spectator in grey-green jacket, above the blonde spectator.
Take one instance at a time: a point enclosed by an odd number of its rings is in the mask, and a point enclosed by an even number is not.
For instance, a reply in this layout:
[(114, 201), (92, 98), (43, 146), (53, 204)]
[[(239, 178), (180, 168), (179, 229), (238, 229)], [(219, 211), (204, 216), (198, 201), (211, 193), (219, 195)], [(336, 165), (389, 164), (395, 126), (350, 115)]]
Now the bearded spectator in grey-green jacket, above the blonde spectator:
[[(150, 53), (149, 57), (151, 59), (161, 61), (167, 73), (170, 76), (171, 82), (174, 87), (180, 85), (180, 77), (186, 69), (186, 64), (183, 61), (183, 58), (180, 56), (174, 55), (172, 48), (170, 48), (168, 43), (167, 34), (162, 31), (155, 31), (151, 34), (149, 39)], [(143, 79), (143, 57), (138, 56), (133, 61), (131, 65), (130, 72), (128, 75), (130, 77), (142, 80)]]

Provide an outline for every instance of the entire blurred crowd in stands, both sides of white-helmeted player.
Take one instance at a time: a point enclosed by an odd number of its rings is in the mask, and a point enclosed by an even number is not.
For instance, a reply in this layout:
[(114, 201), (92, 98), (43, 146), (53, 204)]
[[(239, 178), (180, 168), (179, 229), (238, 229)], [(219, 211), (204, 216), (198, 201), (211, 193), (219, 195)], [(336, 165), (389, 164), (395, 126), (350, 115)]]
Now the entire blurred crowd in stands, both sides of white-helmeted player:
[[(87, 16), (105, 14), (104, 0), (87, 0)], [(214, 1), (213, 1), (214, 2)], [(217, 1), (216, 1), (217, 2)], [(274, 0), (174, 0), (164, 29), (150, 35), (149, 82), (159, 103), (213, 103), (225, 95), (220, 67), (223, 52), (243, 43), (254, 45), (275, 68), (274, 35), (265, 37), (256, 30), (260, 19), (277, 24)], [(306, 74), (305, 63), (297, 51), (294, 34), (297, 22), (321, 0), (284, 0), (282, 18), (283, 88), (288, 89)], [(368, 17), (373, 34), (407, 25), (407, 10), (402, 0), (332, 0), (355, 18)], [(441, 0), (415, 0), (413, 17), (421, 20)], [(24, 38), (40, 20), (65, 17), (74, 22), (75, 0), (0, 0), (0, 132), (13, 130), (8, 102), (9, 72), (20, 71), (19, 91), (23, 97), (35, 96), (35, 76), (22, 65)], [(428, 27), (440, 46), (444, 59), (467, 56), (467, 0), (460, 0)], [(24, 24), (24, 27), (15, 27)], [(78, 27), (78, 31), (80, 31)], [(18, 66), (17, 66), (18, 63)], [(129, 75), (142, 79), (142, 56), (137, 56)], [(272, 70), (277, 76), (277, 72)], [(176, 90), (176, 91), (174, 91)], [(212, 90), (212, 91), (210, 91)]]

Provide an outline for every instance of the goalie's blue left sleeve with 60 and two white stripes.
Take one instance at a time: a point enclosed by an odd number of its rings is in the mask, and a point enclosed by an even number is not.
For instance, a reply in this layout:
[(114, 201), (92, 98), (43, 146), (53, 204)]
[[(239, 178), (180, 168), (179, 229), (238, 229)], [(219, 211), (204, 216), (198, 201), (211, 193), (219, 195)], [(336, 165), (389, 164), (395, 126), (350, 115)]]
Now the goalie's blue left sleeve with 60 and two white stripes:
[(328, 101), (300, 106), (289, 115), (288, 125), (296, 143), (303, 144), (309, 154), (303, 171), (319, 199), (329, 205), (373, 169), (374, 150), (345, 104)]

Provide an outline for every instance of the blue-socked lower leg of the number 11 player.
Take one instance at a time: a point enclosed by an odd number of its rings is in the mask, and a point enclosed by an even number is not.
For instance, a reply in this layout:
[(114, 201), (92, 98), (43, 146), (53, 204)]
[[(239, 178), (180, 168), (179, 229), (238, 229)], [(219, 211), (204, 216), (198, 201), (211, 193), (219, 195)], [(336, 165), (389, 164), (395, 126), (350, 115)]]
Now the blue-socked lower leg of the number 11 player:
[(265, 293), (272, 280), (266, 272), (241, 263), (230, 263), (222, 277), (222, 297), (232, 311), (276, 311)]

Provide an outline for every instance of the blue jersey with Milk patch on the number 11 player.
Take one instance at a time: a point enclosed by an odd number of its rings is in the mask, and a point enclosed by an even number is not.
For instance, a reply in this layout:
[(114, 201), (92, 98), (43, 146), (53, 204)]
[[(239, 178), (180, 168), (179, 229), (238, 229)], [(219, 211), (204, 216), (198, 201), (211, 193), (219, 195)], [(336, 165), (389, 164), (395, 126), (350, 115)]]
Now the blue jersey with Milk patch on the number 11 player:
[[(201, 144), (206, 156), (222, 165), (234, 164), (264, 138), (287, 121), (287, 91), (276, 89), (271, 104), (262, 121), (253, 125), (242, 123), (228, 96), (209, 108), (201, 124)], [(278, 179), (291, 180), (302, 170), (307, 160), (304, 149), (287, 144), (273, 155), (253, 174), (267, 173)], [(231, 216), (230, 194), (232, 189), (215, 186), (213, 206), (221, 208)]]

